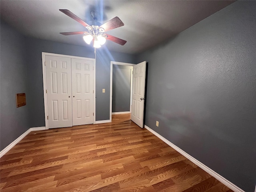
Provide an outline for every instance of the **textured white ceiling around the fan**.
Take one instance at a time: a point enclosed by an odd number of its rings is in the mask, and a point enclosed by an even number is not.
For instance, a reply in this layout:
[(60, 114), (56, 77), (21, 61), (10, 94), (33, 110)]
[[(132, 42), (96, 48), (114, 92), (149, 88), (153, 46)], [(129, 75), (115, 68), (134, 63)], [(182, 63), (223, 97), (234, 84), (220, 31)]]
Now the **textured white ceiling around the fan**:
[(85, 22), (98, 11), (102, 23), (118, 16), (124, 26), (108, 32), (127, 40), (124, 46), (107, 41), (109, 50), (137, 54), (168, 40), (234, 1), (202, 0), (0, 0), (1, 20), (22, 34), (44, 40), (89, 46), (82, 35), (60, 32), (84, 31), (85, 27), (59, 11), (68, 9)]

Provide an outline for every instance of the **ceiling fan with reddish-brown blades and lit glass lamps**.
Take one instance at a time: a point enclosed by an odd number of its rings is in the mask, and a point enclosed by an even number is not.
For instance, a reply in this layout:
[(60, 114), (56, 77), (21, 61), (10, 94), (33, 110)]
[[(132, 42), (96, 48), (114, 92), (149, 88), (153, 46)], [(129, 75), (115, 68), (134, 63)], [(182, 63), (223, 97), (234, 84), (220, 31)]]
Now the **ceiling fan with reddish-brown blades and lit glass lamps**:
[(99, 13), (96, 11), (92, 11), (90, 15), (93, 18), (93, 21), (90, 21), (87, 24), (82, 19), (80, 19), (78, 16), (73, 14), (67, 9), (59, 9), (62, 13), (66, 14), (67, 16), (71, 17), (72, 19), (76, 20), (80, 24), (86, 27), (87, 31), (78, 31), (78, 32), (62, 32), (60, 34), (62, 35), (77, 35), (77, 34), (84, 34), (84, 41), (87, 44), (93, 43), (94, 48), (100, 48), (101, 45), (103, 45), (106, 42), (106, 39), (113, 41), (115, 43), (118, 43), (120, 45), (126, 44), (126, 40), (122, 40), (120, 38), (117, 38), (115, 36), (106, 34), (106, 31), (124, 26), (124, 23), (118, 18), (114, 17), (108, 22), (101, 24), (98, 22)]

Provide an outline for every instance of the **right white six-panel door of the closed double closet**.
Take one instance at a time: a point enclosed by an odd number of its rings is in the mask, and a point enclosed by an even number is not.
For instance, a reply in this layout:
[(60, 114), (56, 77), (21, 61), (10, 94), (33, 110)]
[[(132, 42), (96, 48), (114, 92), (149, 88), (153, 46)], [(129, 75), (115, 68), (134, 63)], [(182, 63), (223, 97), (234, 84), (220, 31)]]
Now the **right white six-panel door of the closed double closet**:
[(93, 60), (71, 59), (73, 126), (93, 124)]

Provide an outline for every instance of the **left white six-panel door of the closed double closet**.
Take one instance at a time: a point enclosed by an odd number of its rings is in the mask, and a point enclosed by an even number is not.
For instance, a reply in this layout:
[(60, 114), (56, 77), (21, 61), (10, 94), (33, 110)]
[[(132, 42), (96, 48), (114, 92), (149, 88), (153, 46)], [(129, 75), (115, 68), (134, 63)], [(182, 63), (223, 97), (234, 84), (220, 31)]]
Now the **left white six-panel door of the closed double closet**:
[(45, 58), (48, 127), (71, 127), (71, 60), (48, 55)]

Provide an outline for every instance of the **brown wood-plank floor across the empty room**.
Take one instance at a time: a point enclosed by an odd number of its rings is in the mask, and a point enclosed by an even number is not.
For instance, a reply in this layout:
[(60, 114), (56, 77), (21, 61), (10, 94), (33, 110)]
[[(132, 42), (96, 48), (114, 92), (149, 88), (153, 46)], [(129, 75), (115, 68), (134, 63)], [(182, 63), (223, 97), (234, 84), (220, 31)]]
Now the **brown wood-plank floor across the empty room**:
[(0, 171), (1, 192), (232, 192), (129, 114), (30, 132)]

